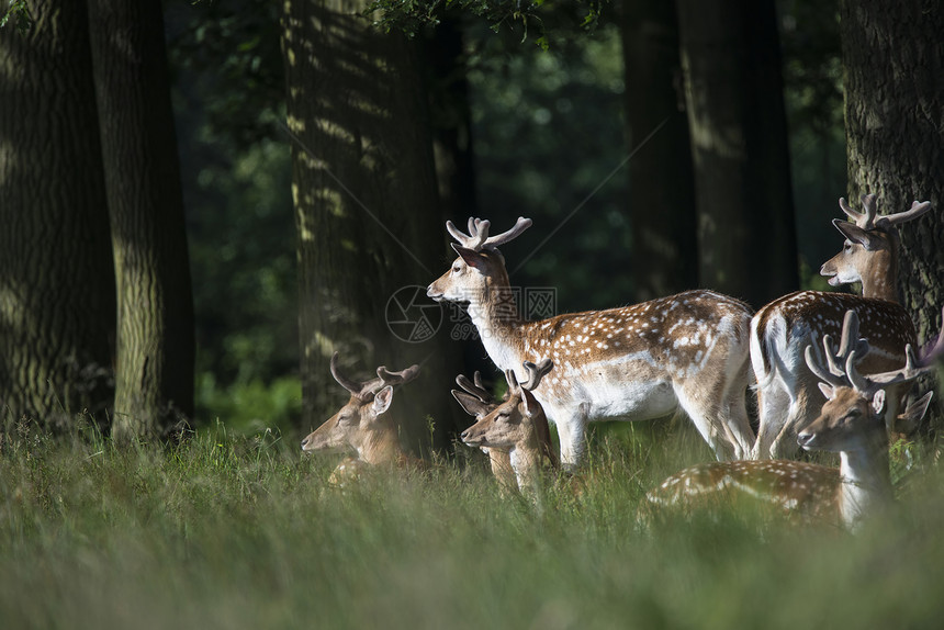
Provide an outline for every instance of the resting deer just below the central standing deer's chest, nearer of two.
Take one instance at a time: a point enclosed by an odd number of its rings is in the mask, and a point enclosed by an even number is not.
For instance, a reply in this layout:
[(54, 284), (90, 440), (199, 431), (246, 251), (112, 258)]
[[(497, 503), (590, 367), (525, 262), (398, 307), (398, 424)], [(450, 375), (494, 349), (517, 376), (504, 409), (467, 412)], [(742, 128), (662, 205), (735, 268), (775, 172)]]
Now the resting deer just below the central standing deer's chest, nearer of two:
[[(524, 368), (528, 373), (527, 381), (519, 384), (515, 372), (507, 370), (507, 397), (491, 405), (491, 409), (462, 431), (460, 437), (470, 447), (487, 448), (490, 453), (495, 450), (508, 453), (518, 488), (533, 494), (540, 483), (543, 459), (547, 458), (553, 469), (559, 465), (553, 449), (550, 448), (550, 431), (544, 410), (532, 394), (541, 379), (551, 371), (553, 363), (550, 359), (544, 359), (538, 365), (526, 362)], [(453, 392), (453, 395), (456, 393)]]

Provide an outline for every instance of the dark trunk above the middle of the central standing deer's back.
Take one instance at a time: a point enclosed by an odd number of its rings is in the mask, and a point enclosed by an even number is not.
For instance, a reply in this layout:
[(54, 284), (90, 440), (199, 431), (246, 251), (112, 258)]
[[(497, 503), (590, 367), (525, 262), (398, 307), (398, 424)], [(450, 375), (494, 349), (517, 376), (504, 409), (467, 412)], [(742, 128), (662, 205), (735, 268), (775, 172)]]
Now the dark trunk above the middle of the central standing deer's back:
[[(622, 57), (636, 301), (698, 285), (695, 183), (675, 5), (623, 0)], [(662, 125), (661, 128), (660, 125)]]

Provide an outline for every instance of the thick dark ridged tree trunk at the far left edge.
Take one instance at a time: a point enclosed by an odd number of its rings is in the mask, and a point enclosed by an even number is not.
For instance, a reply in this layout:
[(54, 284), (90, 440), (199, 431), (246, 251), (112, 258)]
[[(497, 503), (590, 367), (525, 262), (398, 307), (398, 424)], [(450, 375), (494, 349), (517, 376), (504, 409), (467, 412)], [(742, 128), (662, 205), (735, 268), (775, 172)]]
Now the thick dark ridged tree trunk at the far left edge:
[(111, 402), (114, 278), (86, 7), (31, 10), (0, 30), (0, 406), (61, 428)]

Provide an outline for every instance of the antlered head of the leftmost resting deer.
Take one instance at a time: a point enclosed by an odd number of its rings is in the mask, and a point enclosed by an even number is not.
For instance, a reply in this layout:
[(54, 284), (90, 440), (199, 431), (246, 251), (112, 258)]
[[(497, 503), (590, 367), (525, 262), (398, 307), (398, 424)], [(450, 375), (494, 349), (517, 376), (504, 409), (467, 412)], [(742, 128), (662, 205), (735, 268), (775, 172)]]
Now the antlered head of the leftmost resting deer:
[(402, 385), (419, 374), (419, 365), (391, 372), (377, 369), (377, 379), (358, 382), (346, 378), (338, 369), (338, 353), (331, 356), (331, 375), (350, 392), (350, 400), (325, 423), (302, 440), (302, 450), (353, 449), (368, 463), (398, 449), (396, 427), (384, 414), (393, 403), (394, 385)]

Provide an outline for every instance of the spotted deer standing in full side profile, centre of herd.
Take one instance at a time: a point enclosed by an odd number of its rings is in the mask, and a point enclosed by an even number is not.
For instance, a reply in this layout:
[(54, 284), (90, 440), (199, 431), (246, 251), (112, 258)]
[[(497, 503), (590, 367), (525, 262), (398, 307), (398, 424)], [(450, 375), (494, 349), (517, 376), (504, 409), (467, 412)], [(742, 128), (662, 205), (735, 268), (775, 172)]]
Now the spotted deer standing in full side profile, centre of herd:
[(554, 373), (533, 392), (558, 426), (561, 460), (576, 466), (586, 424), (642, 420), (684, 412), (718, 459), (742, 458), (754, 436), (748, 421), (750, 307), (712, 291), (686, 291), (633, 306), (558, 315), (527, 322), (518, 313), (497, 250), (531, 225), (488, 236), (490, 223), (469, 220), (469, 234), (452, 225), (459, 257), (429, 285), (437, 301), (468, 303), (488, 357), (526, 378), (521, 365), (542, 358)]

